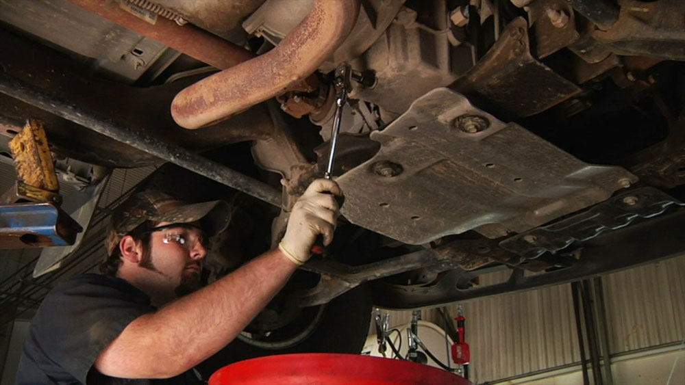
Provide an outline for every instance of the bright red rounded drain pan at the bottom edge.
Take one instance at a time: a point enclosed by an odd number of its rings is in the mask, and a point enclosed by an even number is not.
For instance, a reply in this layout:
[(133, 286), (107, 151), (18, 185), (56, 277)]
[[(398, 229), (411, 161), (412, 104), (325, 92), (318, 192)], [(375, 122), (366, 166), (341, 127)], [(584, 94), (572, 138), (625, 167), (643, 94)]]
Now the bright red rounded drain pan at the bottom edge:
[(283, 354), (230, 364), (209, 385), (472, 385), (469, 380), (416, 362), (354, 354)]

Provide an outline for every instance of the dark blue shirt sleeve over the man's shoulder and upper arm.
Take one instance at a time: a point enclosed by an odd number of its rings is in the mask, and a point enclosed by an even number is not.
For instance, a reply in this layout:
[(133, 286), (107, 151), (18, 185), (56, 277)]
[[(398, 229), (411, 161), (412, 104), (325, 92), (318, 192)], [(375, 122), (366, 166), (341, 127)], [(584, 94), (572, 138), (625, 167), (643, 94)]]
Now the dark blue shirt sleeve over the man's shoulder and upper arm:
[(88, 274), (45, 298), (36, 332), (47, 357), (86, 384), (101, 352), (134, 319), (154, 310), (147, 295), (126, 281)]

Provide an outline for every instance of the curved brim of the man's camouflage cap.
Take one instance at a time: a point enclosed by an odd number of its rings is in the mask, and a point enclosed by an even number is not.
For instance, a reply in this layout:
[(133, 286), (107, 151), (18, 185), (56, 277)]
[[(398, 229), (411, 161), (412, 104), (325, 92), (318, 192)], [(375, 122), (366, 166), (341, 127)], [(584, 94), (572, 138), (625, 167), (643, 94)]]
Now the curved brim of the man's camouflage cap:
[(208, 236), (221, 233), (231, 222), (231, 208), (223, 200), (183, 204), (166, 211), (164, 215), (151, 217), (156, 222), (190, 223), (199, 222)]

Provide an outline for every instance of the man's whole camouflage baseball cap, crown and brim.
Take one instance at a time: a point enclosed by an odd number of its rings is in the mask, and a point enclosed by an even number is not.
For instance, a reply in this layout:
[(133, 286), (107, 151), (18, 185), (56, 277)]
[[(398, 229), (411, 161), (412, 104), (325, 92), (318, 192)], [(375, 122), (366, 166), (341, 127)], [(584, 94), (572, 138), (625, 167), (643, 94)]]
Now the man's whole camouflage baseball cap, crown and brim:
[(206, 235), (211, 237), (228, 226), (231, 211), (223, 200), (187, 203), (162, 191), (139, 192), (125, 200), (112, 213), (105, 239), (107, 254), (111, 256), (119, 248), (121, 239), (147, 220), (171, 223), (197, 221)]

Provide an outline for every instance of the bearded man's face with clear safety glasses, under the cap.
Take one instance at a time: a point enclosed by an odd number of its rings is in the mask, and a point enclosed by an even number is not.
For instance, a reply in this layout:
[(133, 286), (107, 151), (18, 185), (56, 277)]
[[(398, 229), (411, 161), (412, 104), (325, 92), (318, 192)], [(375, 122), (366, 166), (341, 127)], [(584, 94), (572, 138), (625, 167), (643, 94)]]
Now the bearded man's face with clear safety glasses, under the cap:
[[(155, 227), (170, 224), (162, 222)], [(207, 255), (205, 244), (206, 238), (199, 228), (172, 226), (154, 231), (150, 248), (139, 266), (158, 274), (160, 284), (181, 297), (200, 287), (202, 261)]]

